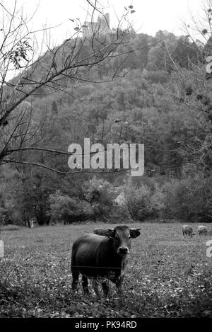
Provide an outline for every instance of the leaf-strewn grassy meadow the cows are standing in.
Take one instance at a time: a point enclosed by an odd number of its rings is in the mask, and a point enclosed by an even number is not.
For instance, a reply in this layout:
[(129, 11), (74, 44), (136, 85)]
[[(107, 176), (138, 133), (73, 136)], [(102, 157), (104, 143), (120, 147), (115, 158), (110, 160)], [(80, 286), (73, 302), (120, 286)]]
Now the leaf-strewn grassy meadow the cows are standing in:
[[(99, 225), (105, 227), (105, 225)], [(110, 224), (110, 227), (114, 225)], [(192, 224), (196, 233), (197, 224)], [(98, 301), (71, 292), (71, 244), (96, 224), (1, 231), (1, 317), (190, 317), (212, 316), (211, 235), (182, 236), (182, 224), (142, 227), (132, 241), (124, 296)]]

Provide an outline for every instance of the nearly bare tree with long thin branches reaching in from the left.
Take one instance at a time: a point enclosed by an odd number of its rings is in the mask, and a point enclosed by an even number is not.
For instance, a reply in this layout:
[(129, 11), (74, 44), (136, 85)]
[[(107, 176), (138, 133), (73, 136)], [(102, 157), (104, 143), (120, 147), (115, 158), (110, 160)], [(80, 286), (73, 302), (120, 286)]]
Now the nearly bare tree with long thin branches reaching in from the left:
[[(25, 151), (42, 151), (68, 155), (66, 151), (40, 144), (44, 141), (43, 132), (51, 127), (54, 119), (47, 119), (45, 113), (40, 120), (36, 119), (34, 96), (55, 91), (72, 96), (71, 87), (78, 82), (98, 82), (93, 78), (92, 69), (105, 61), (111, 64), (105, 81), (119, 77), (114, 59), (122, 55), (124, 62), (129, 55), (126, 45), (131, 29), (131, 6), (124, 8), (117, 28), (111, 29), (108, 16), (102, 12), (98, 1), (86, 2), (90, 8), (89, 21), (80, 23), (70, 18), (73, 34), (55, 47), (51, 46), (49, 38), (52, 28), (30, 30), (33, 16), (25, 17), (17, 0), (14, 0), (12, 11), (0, 2), (0, 164), (30, 164), (64, 173), (46, 164), (28, 161), (24, 154)], [(99, 16), (97, 22), (96, 14)], [(41, 45), (37, 41), (40, 33)]]

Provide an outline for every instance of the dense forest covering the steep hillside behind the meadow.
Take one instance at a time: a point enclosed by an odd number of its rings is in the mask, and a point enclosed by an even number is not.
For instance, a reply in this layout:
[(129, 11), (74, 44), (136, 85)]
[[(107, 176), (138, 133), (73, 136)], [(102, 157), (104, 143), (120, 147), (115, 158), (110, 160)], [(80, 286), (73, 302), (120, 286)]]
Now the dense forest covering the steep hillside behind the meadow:
[[(36, 132), (30, 147), (39, 142), (40, 148), (59, 151), (68, 151), (73, 142), (83, 147), (84, 137), (104, 147), (112, 142), (142, 143), (143, 176), (132, 177), (123, 168), (66, 174), (66, 154), (24, 150), (22, 144), (20, 163), (11, 159), (0, 168), (4, 224), (24, 225), (32, 217), (40, 225), (89, 220), (211, 222), (212, 80), (206, 75), (211, 38), (197, 45), (189, 35), (160, 30), (152, 37), (133, 29), (126, 38), (119, 45), (119, 57), (89, 71), (85, 67), (81, 79), (71, 83), (64, 75), (58, 90), (46, 84), (26, 98), (16, 110), (25, 110), (18, 130), (23, 137), (30, 122)], [(74, 42), (69, 40), (57, 53), (57, 70)], [(81, 54), (89, 57), (90, 44), (83, 43)], [(42, 67), (31, 67), (34, 79), (39, 80), (50, 62), (51, 51), (42, 58)], [(63, 91), (61, 86), (67, 84)], [(4, 122), (4, 137), (9, 126)], [(10, 139), (7, 151), (15, 151), (20, 137)], [(26, 156), (28, 164), (21, 164)]]

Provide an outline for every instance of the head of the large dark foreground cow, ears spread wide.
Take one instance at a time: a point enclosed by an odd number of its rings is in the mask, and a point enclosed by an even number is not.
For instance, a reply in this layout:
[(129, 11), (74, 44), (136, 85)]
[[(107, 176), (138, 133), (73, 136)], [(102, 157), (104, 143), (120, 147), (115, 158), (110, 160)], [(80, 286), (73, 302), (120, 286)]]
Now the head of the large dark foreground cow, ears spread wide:
[(135, 239), (141, 233), (139, 229), (129, 228), (127, 226), (117, 226), (114, 229), (107, 229), (105, 236), (113, 239), (114, 251), (120, 256), (125, 256), (131, 248), (131, 239)]

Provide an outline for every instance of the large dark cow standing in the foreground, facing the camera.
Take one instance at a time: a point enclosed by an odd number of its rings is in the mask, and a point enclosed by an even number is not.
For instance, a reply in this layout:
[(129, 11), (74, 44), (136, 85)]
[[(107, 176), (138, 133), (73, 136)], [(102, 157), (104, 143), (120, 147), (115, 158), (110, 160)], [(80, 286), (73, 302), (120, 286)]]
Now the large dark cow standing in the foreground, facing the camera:
[(88, 278), (93, 279), (98, 297), (98, 278), (102, 280), (105, 297), (109, 294), (109, 280), (115, 283), (118, 292), (122, 292), (131, 239), (141, 234), (139, 230), (122, 225), (105, 229), (104, 235), (84, 234), (74, 241), (71, 253), (72, 290), (76, 290), (81, 273), (83, 290), (87, 294)]

